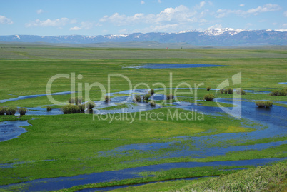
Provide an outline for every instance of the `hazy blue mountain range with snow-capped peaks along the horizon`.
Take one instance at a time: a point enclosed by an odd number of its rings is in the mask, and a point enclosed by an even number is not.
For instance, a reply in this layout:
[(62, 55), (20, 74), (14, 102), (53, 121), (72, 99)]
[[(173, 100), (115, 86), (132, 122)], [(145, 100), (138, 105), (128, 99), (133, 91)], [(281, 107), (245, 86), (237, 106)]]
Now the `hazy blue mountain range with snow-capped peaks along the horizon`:
[(191, 46), (258, 46), (287, 45), (287, 30), (244, 30), (244, 29), (208, 29), (204, 31), (181, 31), (178, 33), (133, 33), (122, 35), (66, 35), (66, 36), (36, 36), (9, 35), (0, 36), (0, 41), (22, 43), (48, 44), (98, 44), (146, 42), (180, 43)]

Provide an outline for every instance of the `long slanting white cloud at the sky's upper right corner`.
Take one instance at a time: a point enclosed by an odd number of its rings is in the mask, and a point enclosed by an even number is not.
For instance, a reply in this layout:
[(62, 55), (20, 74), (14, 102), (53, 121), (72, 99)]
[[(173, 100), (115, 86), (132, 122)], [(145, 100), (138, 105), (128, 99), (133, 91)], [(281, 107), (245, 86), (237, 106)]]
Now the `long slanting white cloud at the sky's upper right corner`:
[(257, 8), (248, 9), (247, 11), (243, 10), (231, 10), (231, 9), (218, 9), (217, 10), (217, 18), (222, 18), (228, 16), (229, 14), (236, 14), (238, 16), (249, 16), (251, 14), (258, 15), (263, 12), (270, 12), (270, 11), (279, 11), (281, 10), (281, 6), (277, 4), (265, 4), (263, 6), (258, 6)]

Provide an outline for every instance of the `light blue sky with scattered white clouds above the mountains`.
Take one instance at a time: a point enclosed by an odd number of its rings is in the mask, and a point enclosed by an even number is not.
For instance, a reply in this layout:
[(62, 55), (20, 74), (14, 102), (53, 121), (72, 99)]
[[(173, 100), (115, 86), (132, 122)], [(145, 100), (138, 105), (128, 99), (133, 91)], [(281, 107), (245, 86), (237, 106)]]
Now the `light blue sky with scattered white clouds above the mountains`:
[(0, 35), (287, 29), (286, 0), (0, 0)]

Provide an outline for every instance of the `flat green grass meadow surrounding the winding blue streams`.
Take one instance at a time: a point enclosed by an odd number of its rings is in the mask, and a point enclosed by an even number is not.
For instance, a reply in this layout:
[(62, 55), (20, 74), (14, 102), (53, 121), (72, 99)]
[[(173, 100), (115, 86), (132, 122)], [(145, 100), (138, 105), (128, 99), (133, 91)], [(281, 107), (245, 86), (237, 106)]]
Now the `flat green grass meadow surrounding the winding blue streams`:
[[(23, 45), (21, 45), (23, 46)], [(197, 91), (198, 104), (216, 108), (215, 102), (202, 101), (206, 94), (216, 94), (216, 91), (206, 91), (207, 86), (216, 89), (221, 82), (231, 79), (231, 76), (241, 72), (240, 87), (244, 90), (272, 91), (284, 89), (287, 82), (287, 51), (268, 49), (109, 49), (109, 48), (66, 48), (60, 46), (25, 46), (25, 49), (16, 49), (15, 45), (0, 46), (0, 100), (33, 94), (46, 94), (46, 84), (56, 74), (81, 74), (82, 79), (76, 78), (75, 91), (82, 92), (84, 101), (104, 100), (104, 94), (98, 86), (89, 91), (85, 89), (97, 82), (102, 84), (108, 93), (108, 76), (121, 74), (129, 78), (132, 88), (139, 83), (145, 83), (150, 88), (176, 87), (185, 82), (193, 88), (201, 84)], [(126, 68), (134, 64), (168, 63), (168, 64), (219, 64), (224, 67), (188, 68), (188, 69), (133, 69)], [(170, 76), (172, 73), (172, 84)], [(231, 81), (230, 81), (231, 82)], [(79, 86), (80, 85), (80, 86)], [(81, 87), (82, 86), (82, 87)], [(180, 86), (186, 88), (186, 86)], [(236, 89), (238, 85), (230, 86)], [(147, 89), (141, 85), (137, 89)], [(71, 90), (71, 80), (56, 79), (51, 86), (51, 92)], [(111, 78), (111, 93), (129, 90), (129, 84), (121, 76)], [(168, 90), (169, 91), (169, 90)], [(89, 92), (89, 98), (85, 99)], [(161, 91), (156, 91), (160, 93)], [(174, 94), (174, 90), (172, 90)], [(179, 101), (194, 103), (193, 94), (184, 94), (178, 90)], [(10, 95), (11, 94), (11, 95)], [(76, 94), (78, 96), (78, 94)], [(127, 96), (115, 94), (115, 96)], [(221, 98), (232, 98), (230, 94), (220, 94)], [(70, 95), (53, 96), (57, 101), (67, 103)], [(246, 94), (242, 96), (250, 102), (253, 100), (287, 101), (286, 96), (270, 96), (269, 94)], [(159, 103), (159, 101), (157, 101)], [(166, 101), (167, 102), (167, 101)], [(119, 103), (116, 103), (119, 104)], [(221, 103), (225, 107), (232, 104)], [(47, 96), (28, 98), (19, 101), (0, 103), (0, 106), (41, 107), (52, 105)], [(285, 107), (284, 103), (274, 105)], [(134, 103), (121, 106), (111, 106), (104, 109), (121, 109), (136, 106)], [(152, 112), (168, 116), (176, 108), (168, 104)], [(166, 107), (168, 106), (168, 107)], [(60, 106), (54, 106), (58, 108)], [(255, 108), (254, 104), (254, 108)], [(178, 112), (187, 113), (184, 109)], [(151, 113), (144, 111), (142, 115)], [(156, 165), (169, 162), (187, 161), (235, 161), (253, 158), (281, 158), (287, 157), (286, 144), (273, 146), (263, 150), (231, 151), (220, 156), (194, 157), (163, 157), (168, 151), (175, 151), (182, 146), (196, 148), (193, 141), (184, 140), (181, 136), (217, 136), (221, 133), (242, 133), (248, 135), (256, 128), (264, 128), (259, 122), (249, 122), (244, 118), (236, 119), (231, 116), (204, 115), (204, 121), (176, 121), (164, 118), (163, 121), (141, 119), (139, 113), (132, 113), (134, 121), (111, 121), (106, 115), (100, 121), (92, 114), (69, 114), (58, 116), (0, 116), (1, 121), (28, 120), (32, 126), (25, 127), (28, 132), (19, 138), (0, 142), (0, 164), (17, 163), (11, 168), (0, 167), (0, 185), (33, 181), (38, 178), (54, 178), (61, 176), (76, 176), (85, 173), (115, 171), (124, 168)], [(196, 113), (197, 115), (199, 113)], [(286, 111), (285, 111), (286, 114)], [(284, 114), (283, 114), (284, 115)], [(284, 119), (282, 120), (284, 121)], [(286, 121), (286, 120), (285, 120)], [(109, 123), (111, 122), (111, 123)], [(245, 126), (246, 123), (248, 126)], [(2, 133), (1, 133), (2, 134)], [(259, 143), (286, 141), (286, 132), (278, 133), (273, 138), (258, 140), (228, 141), (204, 143), (211, 146), (248, 146)], [(121, 146), (141, 143), (178, 142), (178, 148), (161, 148), (154, 151), (130, 150), (113, 155), (110, 151)], [(109, 154), (101, 156), (101, 153)], [(150, 161), (151, 158), (154, 158)], [(158, 159), (156, 159), (158, 158)], [(53, 161), (46, 161), (53, 160)], [(286, 165), (286, 163), (283, 163)], [(243, 167), (243, 166), (242, 166)], [(240, 168), (242, 168), (240, 166)], [(249, 166), (246, 166), (250, 168)], [(233, 167), (229, 167), (233, 168)], [(131, 183), (145, 183), (149, 181), (163, 181), (174, 178), (187, 178), (194, 176), (218, 176), (237, 171), (218, 171), (210, 167), (194, 169), (171, 169), (155, 173), (155, 178), (144, 177), (115, 181), (115, 183), (98, 183), (96, 186), (122, 185)], [(144, 173), (141, 173), (144, 174)], [(229, 179), (229, 178), (228, 178)], [(200, 182), (209, 181), (202, 178)], [(213, 181), (212, 181), (213, 182)], [(280, 181), (281, 182), (281, 181)], [(169, 191), (181, 188), (193, 188), (197, 181), (170, 181), (167, 183), (149, 184), (151, 191)], [(276, 183), (276, 182), (274, 182)], [(275, 185), (275, 184), (274, 184)], [(174, 187), (176, 186), (176, 188)], [(212, 186), (212, 185), (211, 185)], [(89, 188), (84, 186), (79, 188)], [(201, 188), (200, 184), (196, 184)], [(23, 186), (24, 188), (24, 186)], [(129, 188), (130, 189), (130, 188)], [(11, 191), (21, 191), (21, 186), (9, 188)], [(143, 191), (143, 186), (131, 188), (131, 191)], [(0, 188), (1, 191), (1, 188)], [(73, 190), (71, 190), (73, 191)], [(120, 191), (120, 190), (119, 190)], [(125, 191), (125, 190), (124, 190)]]

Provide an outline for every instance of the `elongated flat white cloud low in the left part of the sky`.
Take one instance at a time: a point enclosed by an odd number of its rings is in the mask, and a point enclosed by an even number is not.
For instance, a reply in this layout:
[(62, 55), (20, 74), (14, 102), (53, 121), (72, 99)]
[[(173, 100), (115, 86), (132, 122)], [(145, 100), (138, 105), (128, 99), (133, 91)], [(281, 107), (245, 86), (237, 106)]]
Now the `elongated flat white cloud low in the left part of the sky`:
[(41, 21), (40, 19), (36, 19), (35, 21), (30, 21), (29, 23), (25, 24), (26, 27), (30, 26), (65, 26), (68, 24), (69, 19), (68, 18), (61, 18), (61, 19), (46, 19), (45, 21)]

